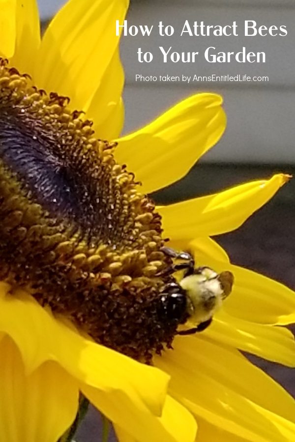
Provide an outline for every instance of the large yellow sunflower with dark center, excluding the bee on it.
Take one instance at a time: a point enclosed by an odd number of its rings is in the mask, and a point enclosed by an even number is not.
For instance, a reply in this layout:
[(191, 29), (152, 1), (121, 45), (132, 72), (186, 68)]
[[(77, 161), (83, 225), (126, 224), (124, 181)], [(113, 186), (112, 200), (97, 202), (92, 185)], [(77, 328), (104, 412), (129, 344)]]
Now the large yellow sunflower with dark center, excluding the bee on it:
[[(232, 265), (210, 239), (288, 177), (154, 207), (146, 194), (187, 173), (225, 114), (219, 96), (195, 95), (118, 138), (112, 24), (127, 3), (70, 0), (42, 41), (34, 0), (1, 5), (1, 439), (56, 442), (82, 392), (120, 441), (291, 441), (294, 400), (239, 350), (294, 366), (293, 336), (278, 327), (295, 320), (294, 292)], [(176, 336), (159, 316), (159, 293), (176, 283), (159, 276), (173, 264), (166, 238), (235, 276), (198, 335)]]

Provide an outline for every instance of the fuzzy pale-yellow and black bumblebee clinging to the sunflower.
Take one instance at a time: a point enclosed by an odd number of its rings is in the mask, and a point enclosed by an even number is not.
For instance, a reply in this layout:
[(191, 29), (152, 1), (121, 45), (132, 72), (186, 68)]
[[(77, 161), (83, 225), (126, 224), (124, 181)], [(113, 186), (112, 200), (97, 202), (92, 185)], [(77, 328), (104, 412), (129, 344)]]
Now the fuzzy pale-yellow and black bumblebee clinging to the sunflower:
[(204, 331), (211, 324), (214, 313), (232, 291), (234, 276), (225, 271), (216, 273), (210, 267), (195, 268), (195, 261), (190, 253), (180, 252), (168, 247), (162, 250), (172, 258), (183, 262), (174, 264), (171, 272), (184, 270), (183, 277), (166, 286), (161, 302), (165, 315), (175, 319), (178, 324), (191, 324), (188, 330), (177, 334), (193, 334)]

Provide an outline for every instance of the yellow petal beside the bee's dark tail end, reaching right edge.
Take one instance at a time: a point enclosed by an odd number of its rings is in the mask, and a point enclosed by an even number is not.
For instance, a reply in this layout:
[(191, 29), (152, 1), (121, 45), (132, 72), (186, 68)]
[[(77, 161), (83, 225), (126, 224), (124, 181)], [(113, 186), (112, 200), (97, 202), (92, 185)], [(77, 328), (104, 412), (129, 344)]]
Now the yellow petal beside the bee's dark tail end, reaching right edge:
[[(182, 243), (182, 246), (185, 244)], [(295, 322), (293, 290), (266, 276), (226, 262), (218, 248), (205, 249), (203, 239), (186, 243), (186, 248), (193, 251), (198, 265), (207, 265), (218, 273), (229, 270), (234, 274), (233, 291), (223, 304), (224, 310), (232, 317), (270, 325)]]

